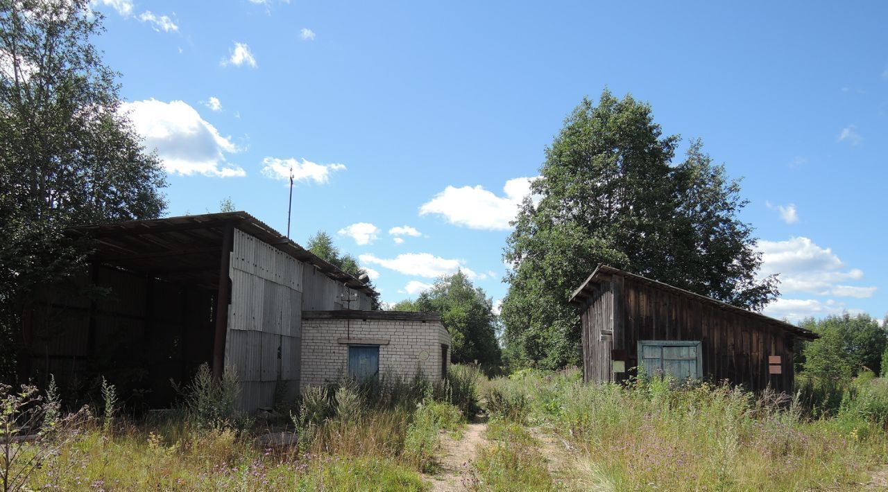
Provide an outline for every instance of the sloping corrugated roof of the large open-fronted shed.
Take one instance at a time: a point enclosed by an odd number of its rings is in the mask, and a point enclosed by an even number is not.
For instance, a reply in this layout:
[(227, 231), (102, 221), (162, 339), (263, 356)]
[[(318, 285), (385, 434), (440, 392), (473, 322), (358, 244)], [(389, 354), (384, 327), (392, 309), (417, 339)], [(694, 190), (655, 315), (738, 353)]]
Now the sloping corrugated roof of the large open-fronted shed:
[[(327, 277), (355, 290), (378, 295), (336, 265), (322, 260), (268, 224), (242, 211), (83, 225), (67, 231), (74, 236), (91, 238), (104, 261), (120, 264), (123, 268), (140, 271), (153, 271), (154, 268), (167, 277), (190, 275), (195, 281), (203, 277), (211, 281), (213, 277), (218, 277), (218, 256), (212, 254), (221, 247), (226, 225), (262, 239), (301, 262), (312, 264)], [(172, 258), (176, 258), (176, 261), (173, 262)], [(215, 275), (207, 273), (214, 269)]]

